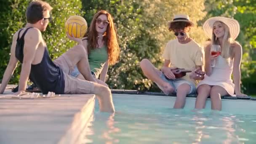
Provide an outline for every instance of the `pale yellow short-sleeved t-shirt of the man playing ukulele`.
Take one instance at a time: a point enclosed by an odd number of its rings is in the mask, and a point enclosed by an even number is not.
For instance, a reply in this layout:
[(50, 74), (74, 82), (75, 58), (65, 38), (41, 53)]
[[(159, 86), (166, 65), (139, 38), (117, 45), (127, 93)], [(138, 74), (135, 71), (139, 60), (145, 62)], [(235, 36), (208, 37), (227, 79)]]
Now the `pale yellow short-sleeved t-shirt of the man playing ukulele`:
[[(194, 40), (181, 44), (178, 39), (175, 39), (170, 40), (165, 46), (163, 58), (170, 60), (171, 67), (195, 70), (196, 66), (203, 66), (204, 50)], [(189, 78), (189, 73), (182, 79), (197, 83)]]

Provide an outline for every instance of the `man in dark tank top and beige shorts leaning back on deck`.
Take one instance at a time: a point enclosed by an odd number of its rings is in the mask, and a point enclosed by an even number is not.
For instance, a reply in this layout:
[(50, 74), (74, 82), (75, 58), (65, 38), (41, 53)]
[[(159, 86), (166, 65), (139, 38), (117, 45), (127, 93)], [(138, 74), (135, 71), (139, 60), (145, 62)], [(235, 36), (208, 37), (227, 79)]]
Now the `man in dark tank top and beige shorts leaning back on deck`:
[[(26, 11), (27, 25), (13, 35), (11, 56), (5, 70), (0, 93), (3, 93), (18, 61), (22, 63), (19, 80), (19, 90), (14, 93), (24, 93), (28, 79), (32, 80), (40, 90), (46, 94), (96, 94), (99, 99), (100, 110), (114, 112), (111, 91), (108, 87), (95, 82), (91, 75), (87, 53), (83, 42), (79, 38), (69, 37), (79, 44), (52, 61), (42, 31), (46, 30), (51, 18), (52, 7), (41, 0), (29, 3)], [(69, 76), (75, 65), (85, 80)]]

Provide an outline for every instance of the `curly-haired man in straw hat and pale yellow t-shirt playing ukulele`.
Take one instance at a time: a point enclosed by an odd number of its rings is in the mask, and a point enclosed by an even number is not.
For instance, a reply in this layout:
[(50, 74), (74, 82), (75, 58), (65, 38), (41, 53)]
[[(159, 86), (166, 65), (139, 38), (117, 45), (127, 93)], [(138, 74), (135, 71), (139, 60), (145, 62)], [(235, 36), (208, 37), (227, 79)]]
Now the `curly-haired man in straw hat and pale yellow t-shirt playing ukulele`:
[[(175, 68), (202, 70), (203, 48), (189, 37), (188, 32), (194, 26), (193, 22), (189, 20), (189, 16), (177, 14), (173, 21), (168, 23), (168, 26), (176, 39), (170, 40), (165, 46), (163, 52), (165, 61), (161, 70), (156, 69), (147, 59), (143, 59), (140, 66), (144, 75), (154, 81), (165, 94), (176, 93), (174, 108), (183, 108), (187, 94), (196, 91), (195, 80), (192, 77), (196, 80), (201, 78), (188, 74), (181, 78), (175, 78), (171, 70)], [(170, 64), (171, 67), (169, 67)]]

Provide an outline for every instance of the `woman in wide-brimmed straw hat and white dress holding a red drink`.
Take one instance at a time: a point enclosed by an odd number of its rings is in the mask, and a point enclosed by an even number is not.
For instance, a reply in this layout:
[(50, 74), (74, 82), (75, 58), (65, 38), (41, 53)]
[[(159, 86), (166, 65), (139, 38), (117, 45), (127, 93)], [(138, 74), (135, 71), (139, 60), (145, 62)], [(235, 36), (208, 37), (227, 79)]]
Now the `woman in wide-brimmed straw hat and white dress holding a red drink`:
[[(203, 29), (211, 38), (211, 43), (205, 48), (207, 76), (197, 85), (195, 108), (204, 108), (205, 101), (210, 96), (211, 108), (221, 110), (221, 96), (235, 96), (234, 92), (237, 96), (246, 96), (240, 91), (242, 47), (235, 41), (240, 26), (235, 19), (218, 16), (205, 21)], [(232, 73), (235, 84), (231, 79)]]

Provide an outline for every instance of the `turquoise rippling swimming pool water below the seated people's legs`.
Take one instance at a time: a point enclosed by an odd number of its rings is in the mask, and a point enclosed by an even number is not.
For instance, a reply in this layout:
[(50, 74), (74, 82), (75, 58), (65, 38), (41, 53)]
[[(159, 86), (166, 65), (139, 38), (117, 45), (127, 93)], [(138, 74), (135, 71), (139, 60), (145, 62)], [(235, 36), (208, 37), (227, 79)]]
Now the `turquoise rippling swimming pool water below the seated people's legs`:
[(114, 96), (115, 114), (96, 110), (85, 139), (93, 144), (255, 144), (256, 115), (171, 109), (166, 100)]

